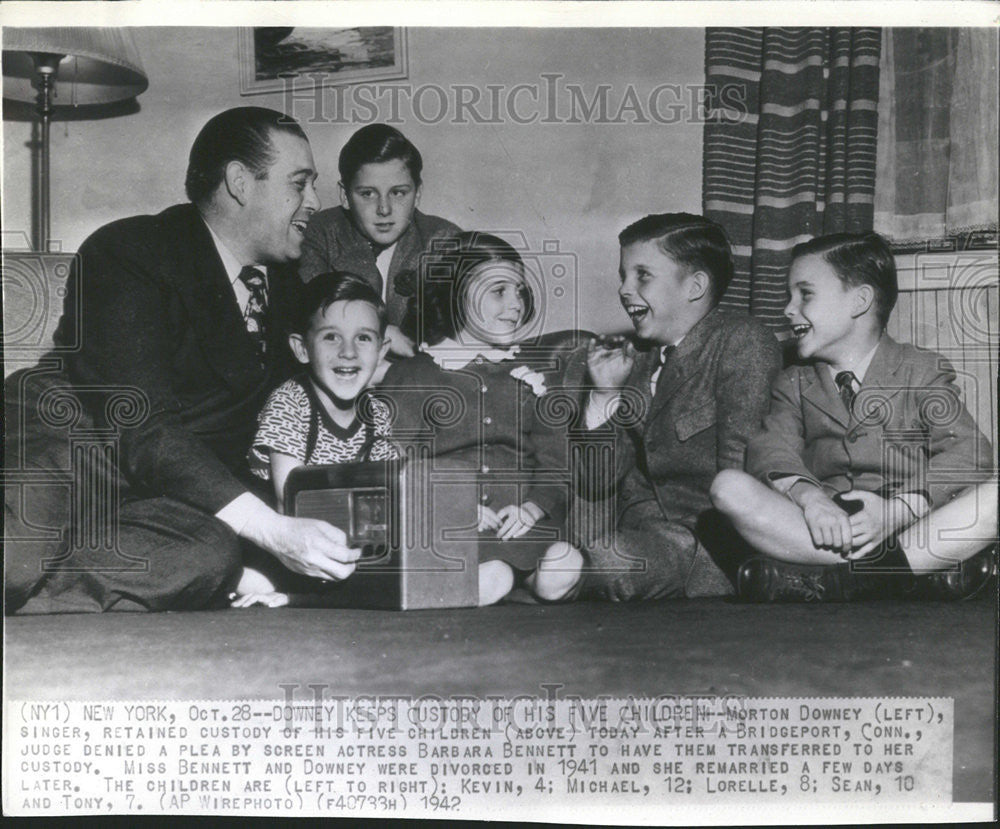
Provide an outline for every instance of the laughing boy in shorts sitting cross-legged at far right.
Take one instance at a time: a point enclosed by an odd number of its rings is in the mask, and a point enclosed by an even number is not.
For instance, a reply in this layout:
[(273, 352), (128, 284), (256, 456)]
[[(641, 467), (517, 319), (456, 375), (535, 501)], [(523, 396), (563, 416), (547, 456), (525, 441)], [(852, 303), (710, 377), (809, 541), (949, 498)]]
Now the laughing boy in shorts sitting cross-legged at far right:
[(840, 233), (800, 244), (788, 285), (785, 314), (805, 363), (775, 383), (747, 472), (721, 472), (712, 485), (718, 509), (765, 554), (740, 568), (740, 596), (975, 592), (992, 572), (980, 551), (997, 532), (989, 442), (950, 363), (885, 333), (898, 293), (885, 240)]

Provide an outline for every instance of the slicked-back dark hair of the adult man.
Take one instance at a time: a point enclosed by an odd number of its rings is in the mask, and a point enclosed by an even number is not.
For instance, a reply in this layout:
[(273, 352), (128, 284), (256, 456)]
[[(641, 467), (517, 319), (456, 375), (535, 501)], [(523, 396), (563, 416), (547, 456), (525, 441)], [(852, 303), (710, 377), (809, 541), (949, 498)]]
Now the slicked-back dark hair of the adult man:
[(211, 198), (230, 161), (239, 161), (257, 179), (267, 178), (276, 153), (271, 135), (285, 132), (308, 140), (293, 118), (264, 107), (236, 107), (209, 120), (191, 146), (184, 190), (196, 205)]

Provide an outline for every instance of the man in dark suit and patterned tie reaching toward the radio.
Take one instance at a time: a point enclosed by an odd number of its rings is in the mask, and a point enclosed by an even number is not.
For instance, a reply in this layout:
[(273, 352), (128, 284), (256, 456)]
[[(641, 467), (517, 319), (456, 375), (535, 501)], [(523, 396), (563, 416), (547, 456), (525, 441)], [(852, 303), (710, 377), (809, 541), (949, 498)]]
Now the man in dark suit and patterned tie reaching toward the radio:
[[(83, 243), (56, 335), (78, 344), (65, 374), (43, 361), (5, 389), (8, 466), (41, 481), (6, 490), (7, 612), (224, 604), (243, 544), (311, 576), (353, 570), (343, 533), (279, 515), (246, 463), (257, 412), (292, 370), (287, 266), (319, 208), (315, 178), (297, 123), (228, 110), (192, 146), (190, 204)], [(81, 460), (74, 441), (94, 434), (115, 439)]]

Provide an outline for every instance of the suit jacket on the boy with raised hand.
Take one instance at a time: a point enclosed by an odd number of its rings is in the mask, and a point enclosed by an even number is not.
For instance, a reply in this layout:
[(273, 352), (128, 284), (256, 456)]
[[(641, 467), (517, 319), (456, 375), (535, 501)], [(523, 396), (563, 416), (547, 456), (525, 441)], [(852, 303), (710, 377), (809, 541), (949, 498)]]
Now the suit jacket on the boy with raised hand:
[[(781, 366), (777, 340), (752, 317), (710, 311), (649, 382), (659, 350), (640, 354), (626, 383), (615, 441), (619, 524), (655, 501), (668, 520), (694, 528), (711, 509), (716, 473), (742, 469)], [(629, 399), (631, 397), (631, 399)]]

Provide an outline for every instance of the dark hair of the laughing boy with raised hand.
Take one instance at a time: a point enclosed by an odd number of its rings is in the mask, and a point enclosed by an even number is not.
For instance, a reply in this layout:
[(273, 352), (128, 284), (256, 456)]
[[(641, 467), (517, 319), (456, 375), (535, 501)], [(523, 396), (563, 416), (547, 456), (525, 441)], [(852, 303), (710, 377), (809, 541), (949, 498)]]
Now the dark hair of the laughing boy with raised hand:
[(618, 234), (622, 247), (656, 242), (671, 259), (708, 274), (715, 305), (733, 278), (733, 252), (722, 227), (693, 213), (657, 213), (630, 224)]

